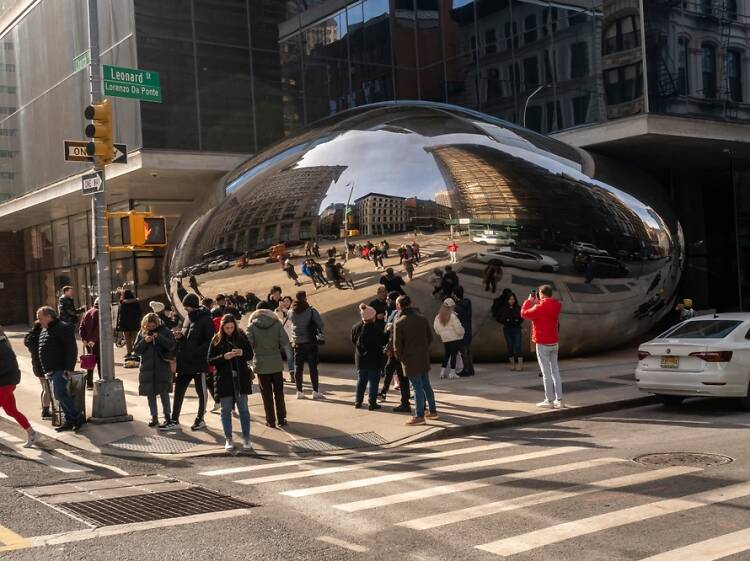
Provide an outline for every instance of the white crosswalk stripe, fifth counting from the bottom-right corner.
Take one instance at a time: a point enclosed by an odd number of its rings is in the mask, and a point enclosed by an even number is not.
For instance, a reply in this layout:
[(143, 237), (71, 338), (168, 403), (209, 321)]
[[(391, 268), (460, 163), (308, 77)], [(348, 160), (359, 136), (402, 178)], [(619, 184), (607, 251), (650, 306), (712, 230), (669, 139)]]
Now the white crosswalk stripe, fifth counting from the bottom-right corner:
[(295, 489), (293, 491), (284, 491), (281, 494), (288, 497), (309, 497), (312, 495), (321, 495), (323, 493), (333, 493), (335, 491), (344, 491), (348, 489), (358, 489), (361, 487), (369, 487), (371, 485), (380, 485), (381, 483), (391, 483), (393, 481), (403, 481), (405, 479), (416, 479), (419, 477), (428, 477), (435, 472), (452, 473), (457, 471), (470, 470), (480, 467), (490, 467), (502, 464), (509, 464), (513, 462), (522, 462), (525, 460), (532, 460), (536, 458), (543, 458), (547, 456), (555, 456), (557, 454), (567, 454), (569, 452), (575, 452), (582, 450), (578, 446), (561, 446), (560, 448), (549, 448), (546, 450), (539, 450), (536, 452), (528, 452), (526, 454), (518, 454), (515, 456), (503, 456), (501, 458), (491, 458), (489, 460), (479, 460), (475, 462), (463, 462), (460, 464), (451, 464), (447, 466), (435, 466), (424, 468), (420, 471), (404, 471), (399, 473), (391, 473), (388, 475), (381, 475), (377, 477), (368, 477), (365, 479), (355, 479), (353, 481), (345, 481), (343, 483), (333, 483), (331, 485), (322, 485), (320, 487), (310, 487), (307, 489)]

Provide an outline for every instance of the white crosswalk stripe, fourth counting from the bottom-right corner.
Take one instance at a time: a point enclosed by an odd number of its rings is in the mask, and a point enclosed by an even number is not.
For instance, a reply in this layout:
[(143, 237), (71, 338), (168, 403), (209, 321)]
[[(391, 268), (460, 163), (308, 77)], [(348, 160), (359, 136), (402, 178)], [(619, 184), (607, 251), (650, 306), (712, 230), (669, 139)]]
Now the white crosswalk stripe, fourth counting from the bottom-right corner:
[[(531, 471), (522, 471), (517, 473), (508, 473), (504, 475), (493, 475), (492, 477), (483, 477), (481, 479), (475, 479), (472, 481), (463, 481), (461, 483), (448, 483), (445, 485), (437, 485), (433, 487), (427, 487), (426, 489), (418, 489), (416, 491), (407, 491), (405, 493), (398, 493), (395, 495), (386, 495), (385, 497), (378, 497), (376, 499), (366, 499), (362, 501), (354, 501), (351, 503), (344, 503), (334, 505), (334, 508), (343, 510), (344, 512), (357, 512), (360, 510), (368, 510), (371, 508), (378, 508), (381, 506), (394, 505), (398, 503), (406, 503), (418, 499), (429, 499), (430, 497), (437, 497), (440, 495), (449, 495), (451, 493), (462, 493), (465, 491), (473, 491), (475, 489), (481, 489), (482, 487), (489, 487), (502, 483), (508, 479), (535, 479), (537, 477), (544, 477), (547, 475), (555, 475), (558, 473), (566, 473), (570, 471), (582, 470), (592, 467), (600, 467), (606, 464), (625, 462), (620, 458), (598, 458), (595, 460), (588, 460), (585, 462), (575, 462), (571, 464), (562, 464), (552, 467), (545, 467), (535, 469)], [(408, 526), (408, 524), (402, 524)], [(411, 526), (410, 526), (411, 527)]]

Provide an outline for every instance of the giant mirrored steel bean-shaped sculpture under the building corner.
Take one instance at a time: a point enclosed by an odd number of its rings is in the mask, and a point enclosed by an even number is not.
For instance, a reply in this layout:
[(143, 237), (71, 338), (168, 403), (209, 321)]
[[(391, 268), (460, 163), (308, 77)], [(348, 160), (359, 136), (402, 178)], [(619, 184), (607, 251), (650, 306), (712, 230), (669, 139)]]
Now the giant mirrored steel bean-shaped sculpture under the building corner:
[[(473, 303), (475, 359), (504, 358), (493, 299), (505, 288), (523, 299), (544, 283), (563, 303), (561, 352), (597, 351), (672, 308), (683, 240), (659, 192), (617, 162), (484, 114), (424, 102), (364, 106), (269, 148), (207, 193), (173, 236), (169, 291), (174, 300), (180, 285), (183, 294), (265, 299), (274, 285), (291, 296), (304, 289), (326, 323), (323, 358), (349, 359), (357, 305), (375, 298), (384, 274), (360, 246), (388, 242), (384, 266), (432, 321), (432, 275), (449, 264), (452, 237), (453, 267)], [(323, 277), (335, 281), (318, 289), (301, 271), (312, 239)], [(398, 248), (414, 242), (421, 260), (409, 279)], [(327, 266), (329, 253), (343, 270)], [(488, 265), (494, 293), (484, 285)], [(525, 322), (525, 351), (529, 331)]]

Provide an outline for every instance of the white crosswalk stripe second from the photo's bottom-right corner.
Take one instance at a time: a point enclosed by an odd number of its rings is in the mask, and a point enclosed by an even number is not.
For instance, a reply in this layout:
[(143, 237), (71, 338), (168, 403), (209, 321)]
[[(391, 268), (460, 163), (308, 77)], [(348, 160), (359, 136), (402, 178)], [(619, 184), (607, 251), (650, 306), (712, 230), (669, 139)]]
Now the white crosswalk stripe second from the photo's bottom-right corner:
[(477, 549), (501, 556), (516, 555), (532, 549), (578, 538), (594, 532), (609, 530), (650, 518), (684, 512), (710, 504), (722, 503), (750, 495), (750, 482), (729, 485), (695, 493), (678, 499), (665, 499), (641, 506), (590, 516), (557, 524), (541, 530), (476, 546)]

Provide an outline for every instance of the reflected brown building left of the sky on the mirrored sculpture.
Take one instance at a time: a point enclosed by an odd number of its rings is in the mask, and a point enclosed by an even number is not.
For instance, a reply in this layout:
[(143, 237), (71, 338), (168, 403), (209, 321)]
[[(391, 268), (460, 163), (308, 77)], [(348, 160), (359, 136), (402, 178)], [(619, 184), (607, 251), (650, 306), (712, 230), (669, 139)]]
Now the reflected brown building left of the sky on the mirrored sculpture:
[(317, 210), (346, 166), (287, 168), (257, 189), (230, 195), (210, 217), (201, 246), (236, 251), (263, 249), (280, 241), (316, 236)]

